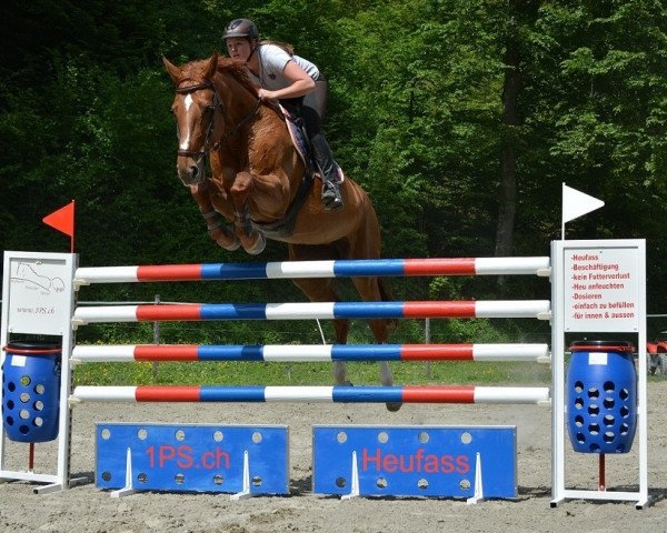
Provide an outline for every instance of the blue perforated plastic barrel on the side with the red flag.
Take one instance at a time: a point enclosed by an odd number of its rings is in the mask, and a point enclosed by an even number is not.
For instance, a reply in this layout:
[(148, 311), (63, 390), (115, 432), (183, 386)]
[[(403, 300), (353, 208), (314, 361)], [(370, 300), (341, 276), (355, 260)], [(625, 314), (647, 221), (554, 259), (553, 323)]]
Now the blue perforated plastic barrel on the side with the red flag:
[(2, 423), (17, 442), (47, 442), (58, 436), (60, 343), (16, 341), (2, 364)]

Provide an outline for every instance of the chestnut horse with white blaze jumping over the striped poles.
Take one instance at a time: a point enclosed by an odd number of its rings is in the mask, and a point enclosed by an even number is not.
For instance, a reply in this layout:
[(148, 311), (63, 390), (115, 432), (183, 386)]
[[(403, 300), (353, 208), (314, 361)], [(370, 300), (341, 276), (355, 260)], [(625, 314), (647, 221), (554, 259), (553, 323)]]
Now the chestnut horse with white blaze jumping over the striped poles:
[[(342, 209), (325, 211), (318, 188), (305, 180), (306, 164), (271, 102), (260, 101), (243, 63), (219, 57), (179, 67), (162, 58), (175, 86), (179, 149), (177, 172), (222, 249), (260, 253), (266, 239), (287, 243), (290, 261), (378, 259), (380, 229), (364, 189), (349, 177), (340, 184)], [(209, 157), (211, 177), (205, 175)], [(231, 223), (231, 228), (226, 225)], [(340, 301), (331, 279), (295, 279), (311, 302)], [(390, 301), (381, 278), (352, 278), (364, 301)], [(387, 343), (396, 321), (370, 320), (376, 343)], [(334, 320), (336, 342), (345, 344), (349, 322)], [(334, 363), (336, 384), (349, 384), (345, 363)], [(382, 385), (394, 384), (380, 362)], [(396, 411), (400, 404), (389, 403)]]

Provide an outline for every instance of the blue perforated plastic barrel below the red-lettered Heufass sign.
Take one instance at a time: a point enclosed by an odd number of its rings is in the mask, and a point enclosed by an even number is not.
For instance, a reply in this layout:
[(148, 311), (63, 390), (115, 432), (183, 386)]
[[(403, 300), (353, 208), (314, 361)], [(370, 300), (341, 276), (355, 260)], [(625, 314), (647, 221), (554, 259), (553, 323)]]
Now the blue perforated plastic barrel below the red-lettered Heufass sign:
[(628, 453), (637, 429), (635, 348), (623, 341), (570, 345), (565, 380), (567, 428), (580, 453)]

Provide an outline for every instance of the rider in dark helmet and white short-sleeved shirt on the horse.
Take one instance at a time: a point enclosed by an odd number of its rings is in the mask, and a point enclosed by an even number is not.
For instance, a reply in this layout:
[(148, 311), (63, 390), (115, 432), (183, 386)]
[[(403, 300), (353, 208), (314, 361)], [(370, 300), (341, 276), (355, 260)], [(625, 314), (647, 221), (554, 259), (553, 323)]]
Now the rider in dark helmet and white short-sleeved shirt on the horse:
[(260, 86), (260, 99), (279, 100), (288, 110), (297, 114), (300, 111), (322, 177), (322, 205), (327, 211), (342, 208), (338, 165), (321, 131), (327, 104), (325, 77), (313, 63), (295, 56), (290, 46), (259, 42), (259, 31), (251, 20), (232, 20), (225, 28), (222, 40), (230, 58), (246, 61)]

